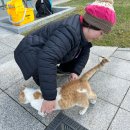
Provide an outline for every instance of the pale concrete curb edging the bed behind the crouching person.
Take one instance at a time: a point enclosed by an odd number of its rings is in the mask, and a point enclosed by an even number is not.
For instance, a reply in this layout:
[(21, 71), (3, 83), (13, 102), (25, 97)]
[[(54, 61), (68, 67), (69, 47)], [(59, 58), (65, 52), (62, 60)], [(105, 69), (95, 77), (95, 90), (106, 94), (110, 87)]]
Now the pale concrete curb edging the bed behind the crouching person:
[(9, 17), (4, 17), (0, 19), (0, 27), (3, 27), (7, 30), (11, 30), (13, 32), (21, 34), (29, 30), (32, 30), (35, 27), (45, 25), (51, 21), (54, 21), (60, 17), (63, 17), (64, 15), (74, 11), (75, 9), (76, 9), (75, 7), (53, 6), (53, 10), (55, 12), (54, 14), (47, 17), (40, 18), (40, 19), (36, 19), (35, 21), (28, 23), (26, 25), (23, 25), (23, 26), (13, 26), (12, 24), (8, 22)]

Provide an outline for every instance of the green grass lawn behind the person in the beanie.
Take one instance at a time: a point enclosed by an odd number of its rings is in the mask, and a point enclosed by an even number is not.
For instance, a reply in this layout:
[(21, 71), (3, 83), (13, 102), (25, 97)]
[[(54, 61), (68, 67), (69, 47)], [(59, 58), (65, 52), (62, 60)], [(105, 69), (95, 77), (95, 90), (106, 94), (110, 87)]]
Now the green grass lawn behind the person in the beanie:
[[(71, 0), (70, 2), (61, 4), (60, 6), (77, 7), (76, 10), (69, 14), (84, 14), (84, 7), (92, 0)], [(115, 11), (117, 14), (117, 24), (113, 27), (112, 32), (104, 35), (101, 40), (94, 41), (93, 45), (98, 46), (117, 46), (121, 48), (130, 47), (130, 2), (129, 0), (115, 0)], [(68, 17), (65, 15), (64, 17)], [(62, 17), (62, 18), (64, 18)], [(39, 28), (39, 27), (38, 27)], [(38, 29), (37, 27), (33, 30)], [(24, 33), (24, 35), (28, 34)]]

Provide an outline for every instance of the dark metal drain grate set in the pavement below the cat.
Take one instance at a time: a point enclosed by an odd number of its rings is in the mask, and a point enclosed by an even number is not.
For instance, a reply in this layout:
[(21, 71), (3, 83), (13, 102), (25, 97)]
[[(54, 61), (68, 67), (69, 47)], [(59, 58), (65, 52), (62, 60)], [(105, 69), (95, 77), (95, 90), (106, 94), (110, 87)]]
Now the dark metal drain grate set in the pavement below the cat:
[(49, 124), (45, 130), (88, 130), (62, 112)]

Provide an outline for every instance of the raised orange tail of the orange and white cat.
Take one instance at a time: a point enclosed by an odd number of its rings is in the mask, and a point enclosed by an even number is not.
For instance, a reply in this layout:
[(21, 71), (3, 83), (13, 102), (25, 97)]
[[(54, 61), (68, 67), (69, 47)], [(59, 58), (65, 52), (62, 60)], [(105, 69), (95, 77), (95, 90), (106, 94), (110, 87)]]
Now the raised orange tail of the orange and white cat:
[(99, 64), (97, 64), (95, 67), (93, 67), (92, 69), (87, 71), (85, 74), (83, 74), (82, 77), (80, 78), (80, 80), (81, 81), (89, 80), (95, 74), (95, 72), (97, 72), (107, 62), (109, 62), (109, 60), (107, 58), (103, 57), (102, 61)]

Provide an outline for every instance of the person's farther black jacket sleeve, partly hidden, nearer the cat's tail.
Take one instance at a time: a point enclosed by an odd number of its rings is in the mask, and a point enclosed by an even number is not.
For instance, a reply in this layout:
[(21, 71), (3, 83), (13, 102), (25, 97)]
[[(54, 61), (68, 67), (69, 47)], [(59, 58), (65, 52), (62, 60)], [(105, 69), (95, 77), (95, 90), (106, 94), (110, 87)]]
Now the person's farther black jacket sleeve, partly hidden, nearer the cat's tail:
[(85, 67), (88, 58), (89, 58), (89, 53), (90, 53), (90, 47), (89, 46), (85, 46), (82, 48), (79, 56), (76, 58), (76, 62), (74, 65), (74, 69), (73, 72), (80, 75), (80, 73), (82, 72), (83, 68)]

